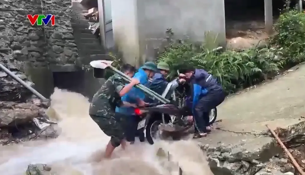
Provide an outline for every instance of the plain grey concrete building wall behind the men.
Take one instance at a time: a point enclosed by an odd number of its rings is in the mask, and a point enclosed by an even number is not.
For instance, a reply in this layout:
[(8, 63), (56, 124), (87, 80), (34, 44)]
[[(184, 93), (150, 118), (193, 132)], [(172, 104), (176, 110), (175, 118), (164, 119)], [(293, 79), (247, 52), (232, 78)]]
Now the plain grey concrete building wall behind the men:
[[(112, 0), (114, 40), (124, 60), (151, 60), (162, 46), (165, 31), (172, 28), (177, 38), (187, 35), (204, 41), (205, 32), (218, 34), (225, 45), (224, 0)], [(135, 59), (136, 58), (136, 59)]]

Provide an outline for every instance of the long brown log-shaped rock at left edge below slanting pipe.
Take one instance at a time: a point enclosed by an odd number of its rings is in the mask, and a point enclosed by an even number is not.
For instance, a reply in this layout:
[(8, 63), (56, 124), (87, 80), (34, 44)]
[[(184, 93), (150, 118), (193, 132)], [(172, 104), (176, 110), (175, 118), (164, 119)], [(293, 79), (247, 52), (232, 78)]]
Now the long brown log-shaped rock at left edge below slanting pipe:
[(0, 128), (15, 127), (35, 117), (47, 117), (44, 110), (33, 103), (0, 102)]

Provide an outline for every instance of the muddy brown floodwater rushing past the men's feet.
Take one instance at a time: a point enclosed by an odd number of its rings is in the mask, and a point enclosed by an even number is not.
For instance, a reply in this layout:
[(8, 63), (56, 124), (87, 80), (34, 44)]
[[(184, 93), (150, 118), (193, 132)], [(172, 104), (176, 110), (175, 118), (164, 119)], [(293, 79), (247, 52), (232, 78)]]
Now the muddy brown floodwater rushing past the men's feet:
[[(0, 174), (24, 174), (30, 163), (45, 163), (56, 175), (210, 175), (203, 152), (193, 141), (158, 141), (154, 145), (137, 142), (120, 147), (113, 159), (102, 159), (109, 141), (88, 115), (89, 102), (81, 94), (55, 89), (48, 114), (57, 120), (60, 136), (47, 141), (30, 141), (0, 146)], [(171, 160), (157, 156), (163, 148)], [(171, 171), (171, 172), (169, 172)]]

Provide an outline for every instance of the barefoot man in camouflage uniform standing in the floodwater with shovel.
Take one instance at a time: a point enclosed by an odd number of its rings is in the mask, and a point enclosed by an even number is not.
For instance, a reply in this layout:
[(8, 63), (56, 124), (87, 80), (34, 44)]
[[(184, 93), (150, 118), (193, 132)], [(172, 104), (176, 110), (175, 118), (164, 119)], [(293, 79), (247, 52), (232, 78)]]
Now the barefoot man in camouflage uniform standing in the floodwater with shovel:
[[(135, 73), (135, 67), (129, 64), (125, 64), (121, 70), (129, 77), (133, 77)], [(125, 95), (136, 84), (139, 84), (139, 81), (131, 79), (131, 82), (125, 86), (123, 79), (115, 74), (109, 77), (93, 96), (89, 114), (101, 130), (111, 137), (106, 147), (105, 158), (110, 158), (113, 150), (120, 144), (123, 148), (125, 147), (124, 129), (122, 123), (115, 119), (114, 113), (116, 106), (123, 106), (121, 96)], [(124, 102), (124, 106), (135, 105)]]

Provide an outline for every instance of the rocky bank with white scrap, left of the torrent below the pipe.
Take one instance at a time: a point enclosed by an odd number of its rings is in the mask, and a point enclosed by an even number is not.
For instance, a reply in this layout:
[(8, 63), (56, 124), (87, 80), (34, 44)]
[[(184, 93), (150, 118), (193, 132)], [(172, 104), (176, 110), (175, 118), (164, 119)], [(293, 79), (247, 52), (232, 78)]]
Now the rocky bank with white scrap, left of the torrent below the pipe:
[(0, 144), (57, 138), (60, 131), (57, 124), (48, 121), (40, 104), (0, 102)]

